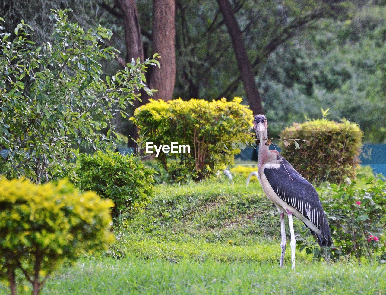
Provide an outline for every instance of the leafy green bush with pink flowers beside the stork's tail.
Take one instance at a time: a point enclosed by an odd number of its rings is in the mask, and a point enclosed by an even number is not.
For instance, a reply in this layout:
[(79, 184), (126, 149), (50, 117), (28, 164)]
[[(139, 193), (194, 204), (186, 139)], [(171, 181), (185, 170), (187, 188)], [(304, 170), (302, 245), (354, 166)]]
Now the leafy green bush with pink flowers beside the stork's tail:
[[(320, 199), (337, 248), (332, 249), (333, 258), (368, 258), (374, 253), (386, 258), (385, 179), (372, 176), (341, 185), (328, 184), (320, 189)], [(318, 248), (304, 241), (299, 241), (298, 247), (320, 256)]]

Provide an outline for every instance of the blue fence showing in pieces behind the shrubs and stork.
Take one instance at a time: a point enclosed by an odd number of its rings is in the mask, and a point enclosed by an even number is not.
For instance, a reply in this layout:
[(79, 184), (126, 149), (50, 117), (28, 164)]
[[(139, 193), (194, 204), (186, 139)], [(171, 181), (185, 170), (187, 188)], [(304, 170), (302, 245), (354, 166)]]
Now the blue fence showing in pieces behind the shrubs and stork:
[[(270, 148), (274, 149), (273, 145)], [(280, 152), (280, 148), (277, 148), (277, 150)], [(130, 154), (133, 152), (133, 149), (118, 148), (118, 151), (123, 154)], [(7, 154), (8, 150), (1, 151), (3, 157)], [(240, 160), (257, 160), (257, 150), (245, 148), (235, 158)], [(360, 159), (362, 165), (369, 165), (376, 174), (386, 176), (386, 144), (365, 144)]]

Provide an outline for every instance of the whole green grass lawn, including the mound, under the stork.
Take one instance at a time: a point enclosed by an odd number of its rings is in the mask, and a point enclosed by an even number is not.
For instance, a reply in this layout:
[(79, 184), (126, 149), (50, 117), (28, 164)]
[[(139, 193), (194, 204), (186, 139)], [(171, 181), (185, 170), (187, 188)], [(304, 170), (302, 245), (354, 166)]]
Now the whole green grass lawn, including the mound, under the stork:
[[(295, 222), (295, 231), (301, 223)], [(288, 228), (287, 228), (288, 229)], [(289, 230), (288, 230), (289, 233)], [(280, 222), (260, 185), (235, 177), (157, 185), (156, 196), (109, 251), (63, 266), (43, 294), (264, 294), (386, 292), (373, 261), (327, 263), (296, 252), (279, 268)], [(0, 294), (7, 294), (0, 285)]]

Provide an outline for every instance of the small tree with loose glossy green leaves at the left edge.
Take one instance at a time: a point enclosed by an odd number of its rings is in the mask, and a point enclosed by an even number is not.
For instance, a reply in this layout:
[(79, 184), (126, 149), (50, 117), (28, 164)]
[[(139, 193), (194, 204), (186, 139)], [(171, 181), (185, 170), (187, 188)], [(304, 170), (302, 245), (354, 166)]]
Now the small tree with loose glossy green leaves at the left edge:
[(68, 11), (52, 10), (52, 44), (36, 46), (24, 22), (13, 40), (0, 34), (0, 147), (9, 149), (0, 157), (0, 172), (8, 178), (25, 175), (39, 183), (64, 176), (74, 143), (105, 148), (115, 136), (114, 115), (127, 115), (139, 89), (152, 93), (144, 72), (157, 61), (133, 60), (103, 80), (100, 61), (116, 51), (103, 46), (111, 31), (99, 26), (85, 32), (67, 22)]

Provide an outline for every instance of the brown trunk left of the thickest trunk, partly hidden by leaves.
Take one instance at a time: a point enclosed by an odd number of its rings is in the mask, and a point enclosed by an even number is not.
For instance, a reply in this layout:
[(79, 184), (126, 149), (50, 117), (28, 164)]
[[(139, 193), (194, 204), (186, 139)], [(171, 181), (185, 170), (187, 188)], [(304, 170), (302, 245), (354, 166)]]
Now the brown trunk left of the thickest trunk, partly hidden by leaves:
[[(125, 43), (126, 43), (126, 63), (139, 59), (144, 61), (144, 50), (142, 46), (141, 30), (138, 22), (138, 12), (135, 0), (115, 0), (115, 3), (122, 12), (125, 29)], [(141, 91), (141, 101), (135, 99), (134, 110), (141, 105), (149, 102), (149, 98), (145, 91)], [(138, 137), (138, 128), (134, 124), (129, 130), (129, 141), (127, 145), (129, 147), (136, 147), (135, 140)], [(134, 140), (132, 140), (132, 138)]]

